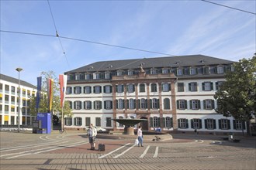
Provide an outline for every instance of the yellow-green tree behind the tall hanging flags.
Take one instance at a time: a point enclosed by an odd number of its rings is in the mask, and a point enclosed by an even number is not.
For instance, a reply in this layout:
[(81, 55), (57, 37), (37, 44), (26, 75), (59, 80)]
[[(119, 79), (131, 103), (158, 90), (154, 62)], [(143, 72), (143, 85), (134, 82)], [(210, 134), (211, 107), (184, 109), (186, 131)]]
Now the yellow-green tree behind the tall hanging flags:
[[(38, 112), (39, 113), (47, 113), (48, 112), (48, 104), (47, 104), (47, 78), (54, 79), (54, 97), (53, 97), (53, 104), (52, 104), (52, 111), (54, 115), (57, 115), (58, 113), (61, 113), (61, 99), (60, 99), (60, 85), (59, 80), (55, 76), (55, 73), (53, 71), (48, 72), (42, 72), (41, 75), (43, 76), (43, 82), (42, 82), (42, 93), (40, 94), (40, 107)], [(36, 97), (33, 96), (30, 98), (31, 101), (31, 114), (36, 115)], [(71, 108), (69, 106), (69, 103), (67, 101), (64, 102), (64, 116), (71, 117)]]

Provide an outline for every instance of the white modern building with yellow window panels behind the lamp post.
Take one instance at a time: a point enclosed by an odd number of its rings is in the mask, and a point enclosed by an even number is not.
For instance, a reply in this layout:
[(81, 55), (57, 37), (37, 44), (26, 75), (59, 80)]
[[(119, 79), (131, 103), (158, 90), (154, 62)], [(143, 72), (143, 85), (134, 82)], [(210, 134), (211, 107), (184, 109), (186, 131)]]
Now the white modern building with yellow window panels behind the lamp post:
[[(36, 95), (36, 86), (20, 80), (20, 124), (32, 124), (29, 98)], [(0, 124), (17, 125), (19, 113), (19, 80), (0, 74)]]

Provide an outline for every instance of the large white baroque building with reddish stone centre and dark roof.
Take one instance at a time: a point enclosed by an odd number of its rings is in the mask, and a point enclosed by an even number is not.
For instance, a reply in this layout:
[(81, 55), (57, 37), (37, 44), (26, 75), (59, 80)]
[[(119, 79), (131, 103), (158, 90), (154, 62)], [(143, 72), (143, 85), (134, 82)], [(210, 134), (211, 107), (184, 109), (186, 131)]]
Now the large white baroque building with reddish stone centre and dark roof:
[(168, 56), (102, 61), (67, 71), (73, 117), (65, 128), (90, 123), (120, 130), (113, 118), (144, 118), (144, 130), (241, 132), (244, 124), (223, 117), (213, 95), (234, 62), (210, 56)]

